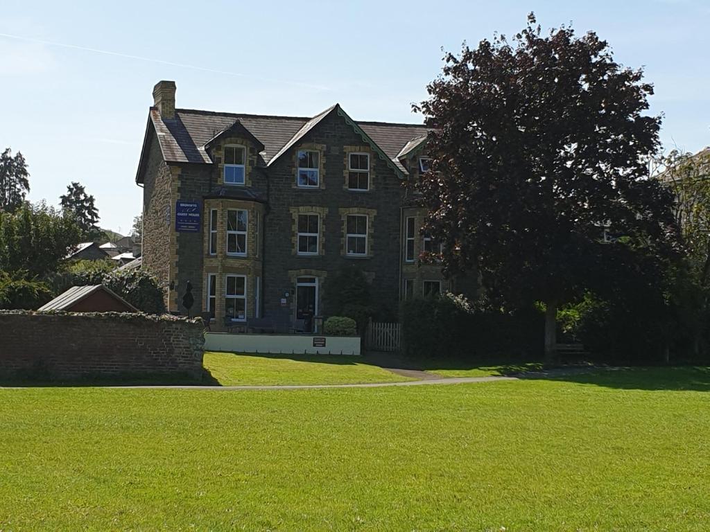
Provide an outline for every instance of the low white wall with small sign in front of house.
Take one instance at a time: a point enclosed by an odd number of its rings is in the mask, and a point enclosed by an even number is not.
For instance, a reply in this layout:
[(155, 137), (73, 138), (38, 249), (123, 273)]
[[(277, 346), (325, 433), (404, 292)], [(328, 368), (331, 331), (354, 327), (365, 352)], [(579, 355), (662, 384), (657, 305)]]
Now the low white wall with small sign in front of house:
[[(324, 347), (313, 347), (313, 338), (325, 339)], [(313, 355), (359, 355), (359, 336), (305, 334), (231, 334), (205, 333), (204, 350), (234, 353), (271, 353)]]

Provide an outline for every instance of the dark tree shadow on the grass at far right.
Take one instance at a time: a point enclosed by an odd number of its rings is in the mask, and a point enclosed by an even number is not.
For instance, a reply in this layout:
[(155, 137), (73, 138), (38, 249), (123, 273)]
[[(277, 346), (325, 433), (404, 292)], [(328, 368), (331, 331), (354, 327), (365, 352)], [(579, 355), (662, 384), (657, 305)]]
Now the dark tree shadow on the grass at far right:
[(574, 372), (560, 368), (520, 377), (614, 389), (710, 392), (710, 367), (705, 366), (601, 367)]

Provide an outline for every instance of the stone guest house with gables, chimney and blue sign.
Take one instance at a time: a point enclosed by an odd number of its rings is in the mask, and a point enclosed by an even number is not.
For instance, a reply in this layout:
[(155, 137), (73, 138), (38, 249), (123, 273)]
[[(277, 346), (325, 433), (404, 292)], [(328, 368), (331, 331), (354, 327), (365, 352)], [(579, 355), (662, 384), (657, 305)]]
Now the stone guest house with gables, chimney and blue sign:
[(437, 243), (404, 186), (427, 165), (427, 129), (358, 122), (335, 104), (313, 117), (175, 108), (153, 89), (136, 183), (143, 267), (182, 311), (224, 318), (327, 316), (329, 276), (356, 265), (382, 306), (452, 288), (418, 260)]

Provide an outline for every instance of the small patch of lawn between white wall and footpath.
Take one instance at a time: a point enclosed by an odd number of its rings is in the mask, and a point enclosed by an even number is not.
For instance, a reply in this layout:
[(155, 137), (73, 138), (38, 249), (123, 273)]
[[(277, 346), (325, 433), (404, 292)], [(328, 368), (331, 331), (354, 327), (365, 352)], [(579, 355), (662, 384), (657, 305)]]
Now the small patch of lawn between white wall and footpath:
[(239, 384), (356, 384), (402, 382), (408, 377), (347, 355), (204, 353), (204, 367), (222, 386)]

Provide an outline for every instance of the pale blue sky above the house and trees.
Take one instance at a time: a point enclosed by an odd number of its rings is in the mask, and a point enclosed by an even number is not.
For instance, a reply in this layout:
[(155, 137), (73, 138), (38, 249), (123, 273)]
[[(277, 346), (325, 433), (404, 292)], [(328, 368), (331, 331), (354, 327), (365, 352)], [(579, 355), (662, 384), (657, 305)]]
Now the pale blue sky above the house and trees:
[(178, 108), (417, 123), (442, 48), (571, 23), (644, 67), (667, 149), (710, 145), (710, 0), (0, 0), (0, 150), (26, 157), (29, 199), (78, 181), (100, 225), (127, 234), (153, 85)]

